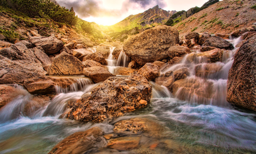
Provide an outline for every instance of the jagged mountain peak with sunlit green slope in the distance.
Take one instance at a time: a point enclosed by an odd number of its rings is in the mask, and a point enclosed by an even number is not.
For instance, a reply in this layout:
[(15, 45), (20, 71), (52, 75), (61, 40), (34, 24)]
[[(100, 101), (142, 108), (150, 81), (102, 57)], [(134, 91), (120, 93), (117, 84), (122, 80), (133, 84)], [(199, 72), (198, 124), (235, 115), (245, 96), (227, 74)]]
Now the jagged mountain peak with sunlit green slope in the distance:
[(102, 29), (110, 32), (121, 32), (124, 30), (130, 30), (134, 27), (138, 27), (139, 29), (153, 27), (164, 24), (174, 13), (176, 13), (175, 10), (165, 11), (156, 5), (143, 13), (130, 15), (115, 25), (102, 26)]

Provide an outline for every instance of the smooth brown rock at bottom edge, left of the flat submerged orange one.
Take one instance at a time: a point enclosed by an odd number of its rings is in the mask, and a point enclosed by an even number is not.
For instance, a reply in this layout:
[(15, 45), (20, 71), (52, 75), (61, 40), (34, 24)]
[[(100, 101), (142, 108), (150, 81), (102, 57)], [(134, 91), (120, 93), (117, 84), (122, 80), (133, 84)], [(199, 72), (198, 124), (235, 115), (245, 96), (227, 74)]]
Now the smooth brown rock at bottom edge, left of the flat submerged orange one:
[(49, 154), (61, 153), (86, 153), (92, 148), (105, 147), (106, 140), (103, 137), (103, 132), (98, 127), (93, 127), (84, 132), (76, 132), (60, 143), (55, 145)]

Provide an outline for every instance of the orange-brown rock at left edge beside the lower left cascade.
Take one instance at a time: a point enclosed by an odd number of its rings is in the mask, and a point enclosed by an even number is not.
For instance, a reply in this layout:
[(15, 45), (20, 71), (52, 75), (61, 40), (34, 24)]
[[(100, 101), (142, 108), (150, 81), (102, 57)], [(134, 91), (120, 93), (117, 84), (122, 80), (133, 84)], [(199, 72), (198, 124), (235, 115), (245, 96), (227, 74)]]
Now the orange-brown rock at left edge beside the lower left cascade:
[(0, 84), (0, 108), (13, 99), (13, 93), (16, 89), (13, 86)]

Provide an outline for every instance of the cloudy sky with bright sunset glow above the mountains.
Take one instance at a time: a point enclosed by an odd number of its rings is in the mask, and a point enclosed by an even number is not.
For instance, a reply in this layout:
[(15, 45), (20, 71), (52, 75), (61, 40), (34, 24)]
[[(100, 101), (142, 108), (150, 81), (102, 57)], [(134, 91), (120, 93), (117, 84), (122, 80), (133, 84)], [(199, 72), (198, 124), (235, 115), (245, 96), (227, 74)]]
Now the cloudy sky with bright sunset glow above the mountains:
[(201, 7), (208, 0), (56, 0), (60, 6), (74, 8), (76, 15), (85, 21), (110, 26), (129, 15), (142, 13), (158, 4), (166, 11), (187, 11)]

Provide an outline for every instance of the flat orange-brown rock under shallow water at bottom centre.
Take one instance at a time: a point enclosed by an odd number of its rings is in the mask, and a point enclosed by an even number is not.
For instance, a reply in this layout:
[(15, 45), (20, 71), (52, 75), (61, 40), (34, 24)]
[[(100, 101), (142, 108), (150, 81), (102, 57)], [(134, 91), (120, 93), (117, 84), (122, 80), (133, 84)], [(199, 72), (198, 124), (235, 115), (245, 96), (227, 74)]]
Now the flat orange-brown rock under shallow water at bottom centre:
[(138, 149), (140, 143), (140, 137), (118, 137), (110, 139), (108, 141), (108, 148), (122, 150), (133, 150)]

